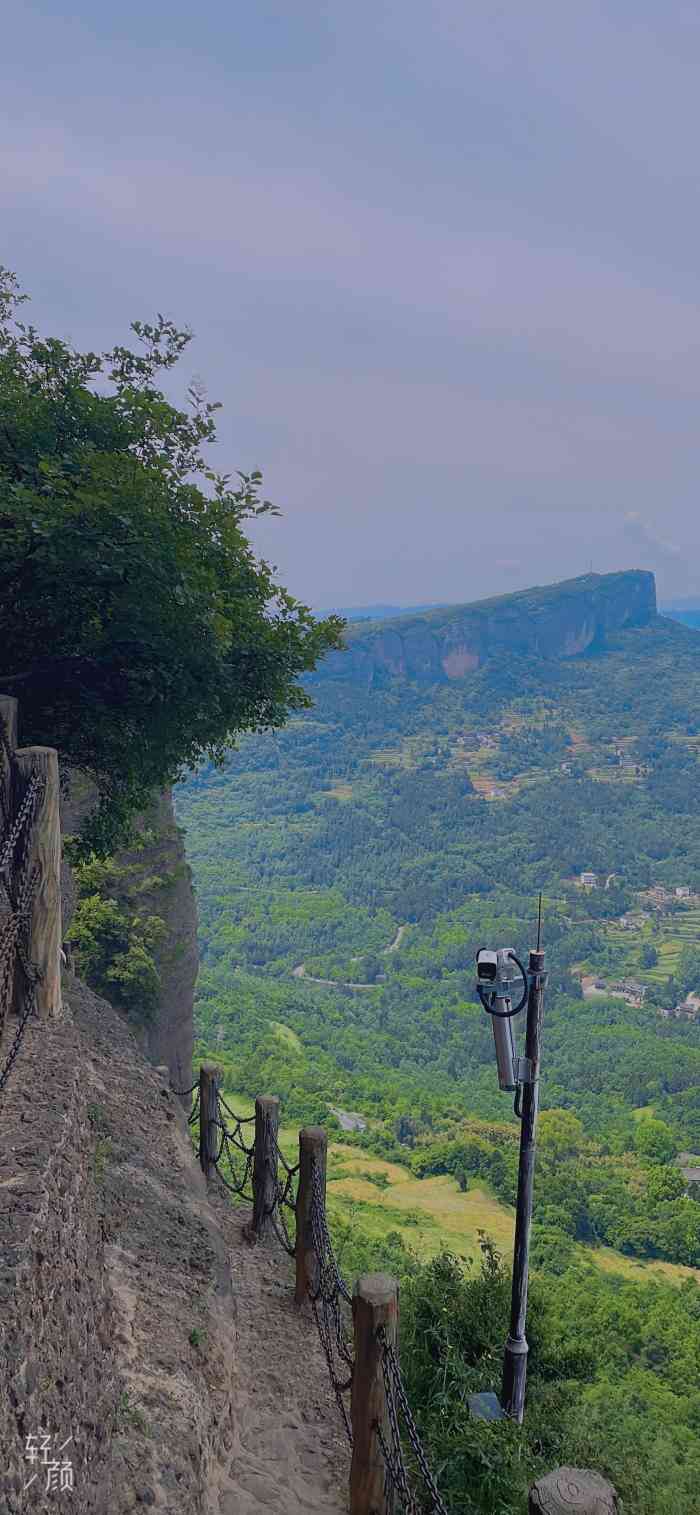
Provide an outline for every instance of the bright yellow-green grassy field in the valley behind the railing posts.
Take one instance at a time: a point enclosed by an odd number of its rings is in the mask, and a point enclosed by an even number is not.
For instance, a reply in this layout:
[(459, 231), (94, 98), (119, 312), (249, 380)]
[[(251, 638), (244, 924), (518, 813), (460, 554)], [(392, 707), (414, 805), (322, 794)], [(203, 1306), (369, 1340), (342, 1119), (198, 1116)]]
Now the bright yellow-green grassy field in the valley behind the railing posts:
[[(236, 1115), (253, 1114), (255, 1103), (245, 1094), (226, 1089), (224, 1097)], [(298, 1132), (282, 1126), (279, 1145), (286, 1160), (294, 1164)], [(424, 1260), (444, 1248), (465, 1260), (479, 1257), (479, 1232), (486, 1232), (506, 1257), (512, 1251), (515, 1212), (502, 1204), (485, 1183), (462, 1194), (453, 1179), (415, 1179), (402, 1164), (374, 1157), (341, 1138), (329, 1144), (327, 1206), (330, 1223), (333, 1215), (355, 1217), (368, 1236), (377, 1238), (395, 1230)], [(618, 1273), (626, 1279), (662, 1277), (680, 1283), (694, 1277), (700, 1283), (698, 1268), (676, 1262), (641, 1262), (611, 1247), (580, 1247), (579, 1253), (605, 1273)], [(339, 1262), (342, 1267), (342, 1257)]]

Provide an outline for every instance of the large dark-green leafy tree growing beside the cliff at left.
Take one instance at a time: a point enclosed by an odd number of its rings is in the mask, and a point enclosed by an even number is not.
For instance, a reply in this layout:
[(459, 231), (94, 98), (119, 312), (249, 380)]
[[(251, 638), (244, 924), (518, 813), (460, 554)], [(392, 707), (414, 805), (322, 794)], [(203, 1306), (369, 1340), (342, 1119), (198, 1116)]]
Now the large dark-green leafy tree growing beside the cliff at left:
[(208, 465), (218, 406), (159, 388), (191, 333), (159, 315), (132, 323), (141, 351), (80, 353), (24, 298), (0, 270), (0, 682), (23, 739), (97, 782), (105, 850), (153, 788), (309, 704), (342, 623), (256, 559), (244, 526), (273, 508), (258, 471)]

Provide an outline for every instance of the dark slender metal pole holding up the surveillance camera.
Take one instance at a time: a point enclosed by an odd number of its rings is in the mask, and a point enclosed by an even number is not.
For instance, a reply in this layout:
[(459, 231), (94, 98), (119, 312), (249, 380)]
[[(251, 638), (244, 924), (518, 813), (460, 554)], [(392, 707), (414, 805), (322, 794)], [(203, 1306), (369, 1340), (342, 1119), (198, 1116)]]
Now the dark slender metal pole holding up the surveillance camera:
[[(538, 933), (539, 935), (539, 933)], [(539, 948), (539, 942), (538, 942)], [(515, 1247), (512, 1265), (511, 1332), (503, 1357), (502, 1404), (506, 1415), (523, 1424), (527, 1379), (527, 1265), (530, 1254), (532, 1192), (535, 1183), (535, 1141), (539, 1103), (539, 1041), (544, 1009), (544, 951), (529, 956), (530, 986), (527, 994), (527, 1029), (523, 1079), (523, 1110), (520, 1127), (518, 1197), (515, 1210)]]

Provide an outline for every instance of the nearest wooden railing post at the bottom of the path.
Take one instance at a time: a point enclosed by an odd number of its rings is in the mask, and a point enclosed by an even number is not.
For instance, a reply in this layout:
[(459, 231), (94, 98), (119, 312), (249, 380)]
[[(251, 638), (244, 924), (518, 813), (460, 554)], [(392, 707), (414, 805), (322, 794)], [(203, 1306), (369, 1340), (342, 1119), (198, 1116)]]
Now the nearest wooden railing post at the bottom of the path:
[(395, 1500), (385, 1494), (385, 1462), (376, 1432), (382, 1427), (391, 1447), (389, 1417), (377, 1330), (395, 1350), (398, 1335), (398, 1283), (388, 1273), (365, 1273), (353, 1289), (355, 1371), (352, 1392), (353, 1460), (350, 1463), (350, 1515), (392, 1515)]

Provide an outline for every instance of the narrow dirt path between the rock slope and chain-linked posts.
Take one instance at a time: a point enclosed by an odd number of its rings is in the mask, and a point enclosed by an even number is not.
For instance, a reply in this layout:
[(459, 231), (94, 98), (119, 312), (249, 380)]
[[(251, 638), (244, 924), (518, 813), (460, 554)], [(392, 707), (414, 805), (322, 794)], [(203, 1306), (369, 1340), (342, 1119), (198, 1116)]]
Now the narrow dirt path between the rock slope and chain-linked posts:
[(250, 1212), (215, 1195), (236, 1301), (230, 1462), (220, 1515), (345, 1515), (350, 1450), (292, 1265), (274, 1239), (250, 1245)]

